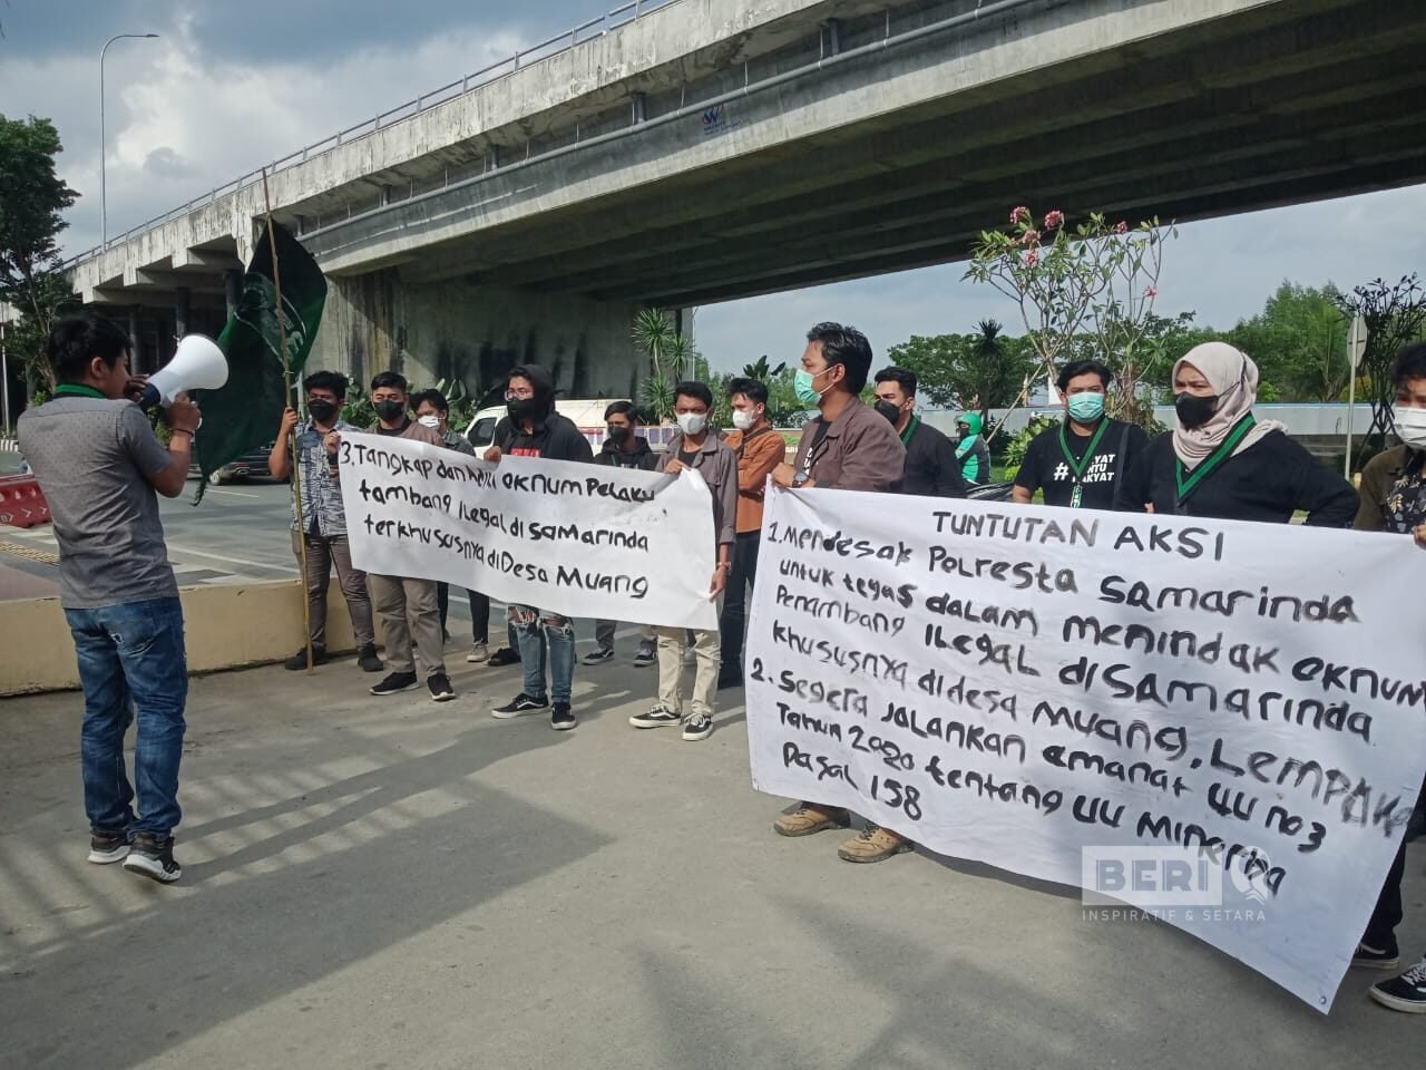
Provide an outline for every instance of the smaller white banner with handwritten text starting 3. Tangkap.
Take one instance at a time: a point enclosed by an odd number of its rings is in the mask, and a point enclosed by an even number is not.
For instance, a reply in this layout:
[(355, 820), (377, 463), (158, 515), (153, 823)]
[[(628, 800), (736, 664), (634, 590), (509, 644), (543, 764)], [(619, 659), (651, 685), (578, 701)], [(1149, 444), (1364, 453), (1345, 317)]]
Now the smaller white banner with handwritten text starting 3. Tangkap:
[(717, 628), (713, 499), (682, 475), (345, 432), (352, 564), (566, 616)]

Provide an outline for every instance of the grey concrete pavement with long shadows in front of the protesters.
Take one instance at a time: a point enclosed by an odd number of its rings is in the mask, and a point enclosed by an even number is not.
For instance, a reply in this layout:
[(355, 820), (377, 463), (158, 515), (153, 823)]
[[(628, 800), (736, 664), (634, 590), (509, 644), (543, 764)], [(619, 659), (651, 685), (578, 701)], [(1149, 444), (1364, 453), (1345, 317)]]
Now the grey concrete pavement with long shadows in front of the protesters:
[(78, 696), (0, 702), (0, 1066), (1420, 1064), (1426, 1017), (1365, 972), (1322, 1017), (1077, 890), (771, 835), (742, 692), (684, 743), (625, 722), (653, 671), (580, 666), (555, 733), (486, 712), (518, 669), (452, 665), (446, 705), (349, 662), (194, 681), (174, 887), (84, 862)]

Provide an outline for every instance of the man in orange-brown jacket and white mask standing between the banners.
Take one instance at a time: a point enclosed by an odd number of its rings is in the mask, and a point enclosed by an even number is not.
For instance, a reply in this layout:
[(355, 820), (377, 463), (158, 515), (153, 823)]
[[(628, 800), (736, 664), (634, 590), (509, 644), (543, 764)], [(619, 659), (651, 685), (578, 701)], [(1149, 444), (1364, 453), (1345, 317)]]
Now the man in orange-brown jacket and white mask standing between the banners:
[(757, 551), (763, 541), (763, 488), (767, 477), (787, 452), (783, 437), (767, 422), (767, 387), (757, 379), (733, 379), (727, 387), (733, 404), (733, 427), (723, 441), (737, 457), (737, 541), (733, 544), (733, 568), (723, 595), (722, 633), (723, 666), (717, 686), (743, 686), (743, 631), (747, 621), (747, 595), (757, 581)]

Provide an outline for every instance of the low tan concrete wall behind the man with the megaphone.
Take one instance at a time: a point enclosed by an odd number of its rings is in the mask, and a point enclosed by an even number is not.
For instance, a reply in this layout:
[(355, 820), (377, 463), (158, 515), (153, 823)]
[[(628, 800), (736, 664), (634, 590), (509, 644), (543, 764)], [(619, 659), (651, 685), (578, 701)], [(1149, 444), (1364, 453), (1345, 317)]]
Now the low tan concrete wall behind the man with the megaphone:
[[(215, 672), (287, 658), (302, 642), (302, 591), (295, 579), (272, 584), (207, 584), (183, 588), (190, 672)], [(0, 603), (4, 658), (0, 695), (78, 688), (78, 668), (60, 599)], [(356, 649), (341, 589), (327, 593), (327, 642), (332, 653)]]

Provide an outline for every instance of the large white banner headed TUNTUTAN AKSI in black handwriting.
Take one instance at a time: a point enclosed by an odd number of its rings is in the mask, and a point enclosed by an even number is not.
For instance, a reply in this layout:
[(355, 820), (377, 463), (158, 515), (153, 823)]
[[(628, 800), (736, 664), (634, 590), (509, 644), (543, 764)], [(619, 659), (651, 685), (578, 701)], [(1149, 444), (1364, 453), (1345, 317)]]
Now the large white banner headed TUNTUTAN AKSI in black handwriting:
[(1423, 588), (1405, 536), (769, 489), (753, 783), (1141, 906), (1325, 1013), (1422, 785)]

